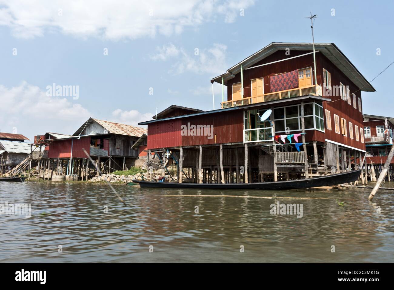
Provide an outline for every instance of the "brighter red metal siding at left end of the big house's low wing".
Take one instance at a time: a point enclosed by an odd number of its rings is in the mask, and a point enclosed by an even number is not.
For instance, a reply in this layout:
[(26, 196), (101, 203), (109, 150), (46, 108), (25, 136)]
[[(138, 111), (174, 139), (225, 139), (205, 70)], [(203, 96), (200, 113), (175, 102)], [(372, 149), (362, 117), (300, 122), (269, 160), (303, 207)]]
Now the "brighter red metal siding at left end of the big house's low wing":
[(148, 125), (148, 149), (177, 147), (182, 144), (182, 119), (155, 122)]

